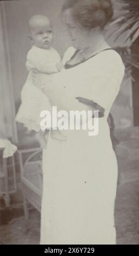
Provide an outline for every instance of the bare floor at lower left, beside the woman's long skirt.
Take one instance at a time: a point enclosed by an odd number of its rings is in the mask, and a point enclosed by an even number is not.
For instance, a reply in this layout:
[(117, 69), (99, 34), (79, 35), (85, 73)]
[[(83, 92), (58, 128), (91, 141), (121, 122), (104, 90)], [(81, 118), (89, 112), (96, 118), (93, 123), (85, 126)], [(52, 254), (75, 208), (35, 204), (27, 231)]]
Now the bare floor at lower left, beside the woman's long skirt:
[(12, 205), (9, 210), (1, 211), (1, 244), (38, 245), (40, 214), (30, 209), (30, 217), (25, 221), (23, 206)]

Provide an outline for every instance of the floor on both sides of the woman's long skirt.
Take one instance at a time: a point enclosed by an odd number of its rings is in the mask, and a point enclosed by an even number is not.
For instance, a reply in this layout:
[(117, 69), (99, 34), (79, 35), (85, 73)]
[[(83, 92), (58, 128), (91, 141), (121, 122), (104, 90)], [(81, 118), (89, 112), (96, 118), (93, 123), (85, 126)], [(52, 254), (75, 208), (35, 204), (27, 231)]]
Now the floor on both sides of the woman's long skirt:
[[(138, 131), (139, 132), (139, 131)], [(129, 135), (128, 135), (129, 136)], [(138, 135), (137, 135), (138, 136)], [(119, 179), (115, 206), (115, 225), (118, 245), (139, 244), (139, 141), (130, 138), (117, 150)], [(40, 214), (30, 208), (29, 220), (25, 221), (22, 203), (4, 208), (1, 201), (0, 243), (39, 244)]]

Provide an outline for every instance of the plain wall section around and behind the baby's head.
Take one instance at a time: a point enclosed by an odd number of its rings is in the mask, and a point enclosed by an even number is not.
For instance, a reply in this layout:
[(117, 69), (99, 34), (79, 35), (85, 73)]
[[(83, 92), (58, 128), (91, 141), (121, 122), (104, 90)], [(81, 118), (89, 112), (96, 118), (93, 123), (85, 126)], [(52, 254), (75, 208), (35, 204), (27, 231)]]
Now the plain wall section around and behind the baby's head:
[[(31, 47), (28, 38), (28, 20), (32, 15), (48, 15), (55, 32), (54, 47), (62, 54), (68, 47), (68, 39), (61, 22), (62, 0), (21, 0), (4, 1), (9, 35), (12, 80), (16, 103), (19, 101), (21, 88), (27, 77), (25, 60)], [(61, 40), (62, 38), (62, 40)]]

